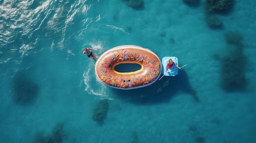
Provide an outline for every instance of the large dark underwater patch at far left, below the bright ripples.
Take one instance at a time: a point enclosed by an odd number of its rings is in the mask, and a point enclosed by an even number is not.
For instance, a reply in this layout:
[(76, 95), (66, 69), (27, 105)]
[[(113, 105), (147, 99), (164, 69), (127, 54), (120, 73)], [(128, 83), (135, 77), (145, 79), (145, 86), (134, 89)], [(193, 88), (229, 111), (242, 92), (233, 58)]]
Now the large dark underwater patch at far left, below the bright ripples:
[(13, 101), (20, 105), (33, 103), (39, 92), (38, 85), (25, 72), (17, 72), (13, 77)]

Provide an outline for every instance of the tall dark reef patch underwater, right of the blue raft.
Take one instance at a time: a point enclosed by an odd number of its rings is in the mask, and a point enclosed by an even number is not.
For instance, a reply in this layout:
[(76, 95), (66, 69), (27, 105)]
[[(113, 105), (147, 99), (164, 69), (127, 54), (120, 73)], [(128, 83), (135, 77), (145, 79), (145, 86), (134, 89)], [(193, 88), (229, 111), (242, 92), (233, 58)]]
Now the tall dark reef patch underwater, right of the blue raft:
[(227, 31), (224, 37), (229, 54), (221, 59), (220, 86), (227, 91), (243, 90), (247, 86), (247, 57), (243, 53), (243, 37), (239, 31)]

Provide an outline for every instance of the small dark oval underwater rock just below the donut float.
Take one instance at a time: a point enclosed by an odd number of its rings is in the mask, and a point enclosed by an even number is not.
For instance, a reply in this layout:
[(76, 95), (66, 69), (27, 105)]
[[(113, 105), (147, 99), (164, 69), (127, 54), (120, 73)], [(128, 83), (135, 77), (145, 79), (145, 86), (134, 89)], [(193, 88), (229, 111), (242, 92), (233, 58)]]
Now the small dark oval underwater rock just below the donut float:
[(108, 113), (108, 100), (98, 101), (97, 105), (92, 110), (93, 121), (103, 121), (107, 117)]

